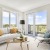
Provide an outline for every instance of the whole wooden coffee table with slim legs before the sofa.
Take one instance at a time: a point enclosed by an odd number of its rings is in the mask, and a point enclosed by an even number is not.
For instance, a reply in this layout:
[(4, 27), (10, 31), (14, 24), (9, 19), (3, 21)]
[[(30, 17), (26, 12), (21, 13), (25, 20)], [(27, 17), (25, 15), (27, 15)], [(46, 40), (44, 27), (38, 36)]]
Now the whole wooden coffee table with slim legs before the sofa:
[(22, 43), (23, 43), (23, 42), (26, 42), (27, 50), (29, 50), (29, 46), (28, 46), (28, 42), (29, 42), (29, 41), (27, 41), (26, 39), (24, 40), (23, 38), (17, 37), (17, 38), (13, 38), (12, 40), (7, 39), (6, 42), (7, 42), (6, 50), (7, 50), (7, 48), (8, 48), (8, 44), (9, 44), (9, 43), (20, 43), (21, 50), (23, 50), (23, 48), (22, 48)]

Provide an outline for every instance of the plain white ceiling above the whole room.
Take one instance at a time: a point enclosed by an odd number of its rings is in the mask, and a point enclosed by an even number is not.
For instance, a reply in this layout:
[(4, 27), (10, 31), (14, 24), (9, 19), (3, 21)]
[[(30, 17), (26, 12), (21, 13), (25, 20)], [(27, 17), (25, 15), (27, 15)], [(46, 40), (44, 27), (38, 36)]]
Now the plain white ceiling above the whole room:
[(49, 4), (50, 0), (0, 0), (0, 4), (22, 12)]

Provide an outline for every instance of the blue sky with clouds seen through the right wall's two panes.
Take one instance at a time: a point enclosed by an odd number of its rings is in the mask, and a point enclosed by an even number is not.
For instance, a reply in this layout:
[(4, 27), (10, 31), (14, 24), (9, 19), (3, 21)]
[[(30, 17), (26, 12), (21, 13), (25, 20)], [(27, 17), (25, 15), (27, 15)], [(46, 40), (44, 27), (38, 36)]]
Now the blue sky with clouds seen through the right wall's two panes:
[[(38, 12), (35, 14), (35, 24), (46, 24), (47, 23), (47, 13), (46, 11)], [(29, 15), (28, 24), (33, 25), (33, 15)]]

